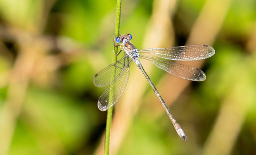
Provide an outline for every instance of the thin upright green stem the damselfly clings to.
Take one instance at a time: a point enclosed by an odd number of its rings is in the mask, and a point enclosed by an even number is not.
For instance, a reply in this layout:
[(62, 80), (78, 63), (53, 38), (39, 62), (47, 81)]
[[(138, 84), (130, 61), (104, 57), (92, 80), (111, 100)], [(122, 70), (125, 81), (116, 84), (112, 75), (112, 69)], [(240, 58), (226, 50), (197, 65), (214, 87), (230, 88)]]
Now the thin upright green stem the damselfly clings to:
[[(117, 0), (117, 3), (116, 3), (115, 36), (119, 35), (120, 16), (121, 16), (121, 2), (122, 2), (122, 0)], [(112, 63), (115, 63), (117, 61), (117, 56), (116, 56), (116, 52), (115, 51), (118, 51), (118, 46), (114, 47)], [(115, 75), (114, 73), (113, 73), (113, 76)], [(110, 129), (111, 129), (111, 122), (112, 122), (112, 115), (113, 115), (113, 106), (111, 108), (109, 108), (108, 113), (107, 113), (104, 155), (109, 154)]]

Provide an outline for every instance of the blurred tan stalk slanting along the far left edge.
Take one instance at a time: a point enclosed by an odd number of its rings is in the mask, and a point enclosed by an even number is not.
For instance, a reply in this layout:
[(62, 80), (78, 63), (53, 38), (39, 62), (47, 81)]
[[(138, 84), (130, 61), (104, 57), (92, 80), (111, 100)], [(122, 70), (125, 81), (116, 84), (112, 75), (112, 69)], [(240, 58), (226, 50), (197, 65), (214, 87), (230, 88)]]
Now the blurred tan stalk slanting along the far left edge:
[[(28, 45), (28, 46), (27, 46)], [(7, 154), (11, 144), (17, 118), (20, 115), (22, 102), (28, 86), (30, 74), (35, 63), (31, 45), (22, 47), (10, 75), (7, 100), (0, 117), (0, 154)]]

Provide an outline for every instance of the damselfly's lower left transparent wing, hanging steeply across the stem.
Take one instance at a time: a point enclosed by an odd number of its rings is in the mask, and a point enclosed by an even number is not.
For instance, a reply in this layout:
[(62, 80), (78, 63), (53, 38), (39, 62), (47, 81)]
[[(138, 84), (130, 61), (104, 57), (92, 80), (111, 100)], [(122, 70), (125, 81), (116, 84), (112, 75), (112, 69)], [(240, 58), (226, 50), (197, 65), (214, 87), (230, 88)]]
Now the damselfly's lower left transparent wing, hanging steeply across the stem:
[(129, 73), (128, 64), (100, 96), (98, 100), (99, 110), (106, 111), (119, 100), (127, 85)]

